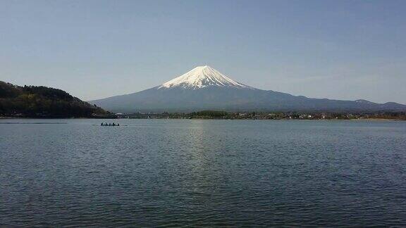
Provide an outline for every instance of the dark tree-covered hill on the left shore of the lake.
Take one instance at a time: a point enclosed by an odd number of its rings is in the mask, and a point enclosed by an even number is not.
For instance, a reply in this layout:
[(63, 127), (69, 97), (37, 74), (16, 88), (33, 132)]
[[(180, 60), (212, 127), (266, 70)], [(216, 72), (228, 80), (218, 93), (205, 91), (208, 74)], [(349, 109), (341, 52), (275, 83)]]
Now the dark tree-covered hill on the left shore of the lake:
[(24, 86), (0, 81), (0, 116), (27, 118), (90, 118), (107, 115), (66, 91), (49, 87)]

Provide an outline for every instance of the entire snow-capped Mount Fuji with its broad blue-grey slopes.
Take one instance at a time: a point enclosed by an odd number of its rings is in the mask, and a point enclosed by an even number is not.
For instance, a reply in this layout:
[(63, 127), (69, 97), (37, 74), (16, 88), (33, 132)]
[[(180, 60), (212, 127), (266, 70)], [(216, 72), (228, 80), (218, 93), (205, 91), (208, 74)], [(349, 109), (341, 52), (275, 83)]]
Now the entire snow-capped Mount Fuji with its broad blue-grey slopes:
[(89, 102), (121, 113), (188, 112), (208, 109), (337, 112), (406, 110), (405, 105), (393, 102), (311, 99), (278, 91), (256, 89), (235, 82), (207, 65), (198, 66), (184, 75), (151, 89)]

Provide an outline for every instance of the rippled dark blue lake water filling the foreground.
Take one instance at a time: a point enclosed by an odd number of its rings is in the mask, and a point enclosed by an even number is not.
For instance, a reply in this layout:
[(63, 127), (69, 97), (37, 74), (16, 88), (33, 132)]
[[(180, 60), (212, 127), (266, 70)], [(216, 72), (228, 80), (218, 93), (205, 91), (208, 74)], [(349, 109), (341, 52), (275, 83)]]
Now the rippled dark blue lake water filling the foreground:
[(406, 226), (406, 122), (100, 122), (0, 120), (1, 227)]

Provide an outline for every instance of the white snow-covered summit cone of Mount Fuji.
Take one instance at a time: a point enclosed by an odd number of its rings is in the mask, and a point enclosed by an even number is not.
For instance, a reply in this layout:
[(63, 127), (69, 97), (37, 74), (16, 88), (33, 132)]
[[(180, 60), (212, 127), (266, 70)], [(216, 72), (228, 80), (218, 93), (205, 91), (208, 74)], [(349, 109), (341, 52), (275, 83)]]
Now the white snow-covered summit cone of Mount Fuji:
[(184, 75), (180, 75), (173, 80), (161, 84), (158, 89), (168, 89), (173, 87), (181, 87), (184, 89), (201, 89), (209, 86), (247, 89), (252, 88), (240, 82), (235, 82), (214, 68), (204, 65), (198, 66)]

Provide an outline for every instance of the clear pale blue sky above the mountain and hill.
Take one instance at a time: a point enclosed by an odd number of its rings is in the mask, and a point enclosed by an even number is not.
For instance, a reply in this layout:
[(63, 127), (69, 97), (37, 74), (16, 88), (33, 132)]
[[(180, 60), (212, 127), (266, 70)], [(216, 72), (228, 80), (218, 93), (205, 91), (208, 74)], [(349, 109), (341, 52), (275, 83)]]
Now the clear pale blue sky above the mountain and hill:
[(406, 103), (406, 1), (0, 1), (0, 80), (100, 99), (197, 65), (259, 89)]

